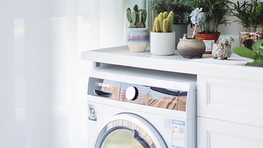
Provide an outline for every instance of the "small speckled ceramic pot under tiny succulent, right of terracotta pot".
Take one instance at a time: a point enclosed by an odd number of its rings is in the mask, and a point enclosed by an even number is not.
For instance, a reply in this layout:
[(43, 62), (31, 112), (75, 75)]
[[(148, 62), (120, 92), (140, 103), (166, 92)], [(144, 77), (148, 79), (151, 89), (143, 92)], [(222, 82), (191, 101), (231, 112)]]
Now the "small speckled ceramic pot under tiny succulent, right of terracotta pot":
[(212, 55), (214, 59), (228, 59), (231, 56), (231, 45), (230, 44), (214, 44)]

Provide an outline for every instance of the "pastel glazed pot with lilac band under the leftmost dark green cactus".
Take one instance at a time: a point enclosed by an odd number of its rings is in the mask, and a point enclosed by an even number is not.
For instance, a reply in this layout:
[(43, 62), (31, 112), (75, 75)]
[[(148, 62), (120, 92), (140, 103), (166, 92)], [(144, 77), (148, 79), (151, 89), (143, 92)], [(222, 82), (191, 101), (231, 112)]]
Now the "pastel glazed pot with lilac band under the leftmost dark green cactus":
[(145, 52), (149, 42), (148, 28), (127, 28), (126, 41), (130, 52)]

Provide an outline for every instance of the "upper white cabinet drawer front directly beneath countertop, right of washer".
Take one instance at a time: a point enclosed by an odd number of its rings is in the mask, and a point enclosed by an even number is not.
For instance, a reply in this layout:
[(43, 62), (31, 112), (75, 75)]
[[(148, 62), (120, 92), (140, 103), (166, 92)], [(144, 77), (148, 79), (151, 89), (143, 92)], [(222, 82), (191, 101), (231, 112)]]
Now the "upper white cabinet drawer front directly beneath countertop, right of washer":
[(263, 126), (263, 82), (198, 76), (197, 115)]

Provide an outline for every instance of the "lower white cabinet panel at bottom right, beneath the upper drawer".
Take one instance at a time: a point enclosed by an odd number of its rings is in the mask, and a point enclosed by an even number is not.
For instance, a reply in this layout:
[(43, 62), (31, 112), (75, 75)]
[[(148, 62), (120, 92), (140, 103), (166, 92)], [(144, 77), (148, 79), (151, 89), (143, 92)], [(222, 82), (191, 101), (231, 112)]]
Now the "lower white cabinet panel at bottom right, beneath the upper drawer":
[(261, 127), (197, 118), (198, 148), (262, 148), (262, 134)]

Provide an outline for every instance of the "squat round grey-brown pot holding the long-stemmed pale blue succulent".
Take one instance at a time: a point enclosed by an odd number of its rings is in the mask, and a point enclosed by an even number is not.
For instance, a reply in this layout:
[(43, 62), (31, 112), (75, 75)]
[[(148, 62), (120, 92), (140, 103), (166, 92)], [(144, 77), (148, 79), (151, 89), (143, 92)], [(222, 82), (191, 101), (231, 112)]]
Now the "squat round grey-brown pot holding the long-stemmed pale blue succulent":
[(205, 52), (203, 39), (180, 39), (177, 45), (178, 53), (185, 58), (202, 57)]

